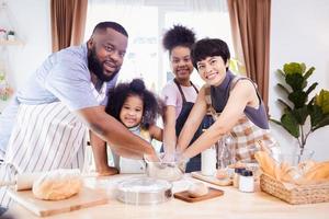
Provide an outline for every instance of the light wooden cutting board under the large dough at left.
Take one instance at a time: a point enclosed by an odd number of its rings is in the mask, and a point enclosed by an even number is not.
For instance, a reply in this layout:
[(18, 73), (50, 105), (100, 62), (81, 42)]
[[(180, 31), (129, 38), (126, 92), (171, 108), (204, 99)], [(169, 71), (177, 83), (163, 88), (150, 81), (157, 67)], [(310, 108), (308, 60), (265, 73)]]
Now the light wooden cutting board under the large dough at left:
[(79, 194), (64, 200), (41, 200), (34, 197), (32, 191), (12, 191), (9, 195), (24, 208), (39, 217), (68, 212), (107, 203), (106, 193), (83, 186)]

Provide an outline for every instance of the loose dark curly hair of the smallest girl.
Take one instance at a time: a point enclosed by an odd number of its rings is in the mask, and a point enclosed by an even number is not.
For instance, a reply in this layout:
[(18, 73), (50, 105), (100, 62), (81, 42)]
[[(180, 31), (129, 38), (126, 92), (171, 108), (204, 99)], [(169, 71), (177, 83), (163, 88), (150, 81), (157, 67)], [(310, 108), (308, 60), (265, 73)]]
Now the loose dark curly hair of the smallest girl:
[(121, 122), (120, 112), (128, 96), (139, 96), (144, 103), (141, 128), (147, 129), (156, 123), (158, 116), (162, 115), (163, 103), (145, 88), (140, 79), (134, 79), (131, 83), (118, 83), (110, 90), (105, 112)]

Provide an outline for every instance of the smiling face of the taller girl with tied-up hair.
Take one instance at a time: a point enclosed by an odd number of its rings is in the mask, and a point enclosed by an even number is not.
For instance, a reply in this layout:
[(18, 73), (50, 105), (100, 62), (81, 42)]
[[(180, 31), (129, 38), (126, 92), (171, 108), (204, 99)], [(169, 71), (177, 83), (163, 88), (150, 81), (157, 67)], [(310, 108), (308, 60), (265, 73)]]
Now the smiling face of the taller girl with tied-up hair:
[(171, 50), (171, 69), (178, 81), (190, 81), (193, 71), (190, 53), (191, 49), (184, 46), (177, 46)]

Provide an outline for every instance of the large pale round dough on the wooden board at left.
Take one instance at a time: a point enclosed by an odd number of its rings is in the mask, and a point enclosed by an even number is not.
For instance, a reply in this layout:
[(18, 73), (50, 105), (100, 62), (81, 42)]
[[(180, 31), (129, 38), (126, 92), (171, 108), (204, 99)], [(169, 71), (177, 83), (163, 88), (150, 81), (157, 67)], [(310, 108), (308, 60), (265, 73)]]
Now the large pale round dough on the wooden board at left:
[(82, 178), (79, 170), (59, 169), (41, 175), (33, 183), (33, 194), (44, 200), (61, 200), (79, 193)]

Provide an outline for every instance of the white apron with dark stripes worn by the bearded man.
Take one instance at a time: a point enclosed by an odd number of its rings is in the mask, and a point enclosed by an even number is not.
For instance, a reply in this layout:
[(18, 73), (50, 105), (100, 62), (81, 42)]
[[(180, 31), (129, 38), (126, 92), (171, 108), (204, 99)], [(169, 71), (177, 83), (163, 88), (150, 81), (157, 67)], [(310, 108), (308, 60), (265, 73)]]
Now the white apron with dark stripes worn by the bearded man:
[[(99, 93), (100, 102), (105, 84)], [(20, 104), (16, 123), (0, 166), (0, 181), (12, 180), (18, 173), (46, 172), (56, 169), (80, 169), (84, 164), (87, 127), (61, 102)], [(8, 206), (7, 188), (0, 188), (0, 205)]]

